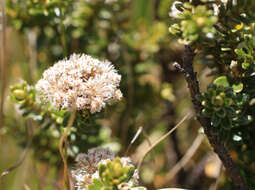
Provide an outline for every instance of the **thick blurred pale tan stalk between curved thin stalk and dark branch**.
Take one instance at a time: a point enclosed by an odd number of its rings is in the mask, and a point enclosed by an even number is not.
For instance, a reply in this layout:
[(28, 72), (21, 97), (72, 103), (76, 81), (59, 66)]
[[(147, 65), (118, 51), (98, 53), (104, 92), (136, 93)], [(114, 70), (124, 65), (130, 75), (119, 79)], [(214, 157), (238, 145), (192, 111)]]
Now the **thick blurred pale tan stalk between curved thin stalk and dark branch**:
[(190, 146), (186, 154), (182, 159), (175, 164), (175, 166), (166, 174), (166, 181), (172, 180), (172, 178), (189, 162), (192, 156), (195, 154), (200, 144), (202, 143), (204, 135), (199, 134), (194, 140), (193, 144)]

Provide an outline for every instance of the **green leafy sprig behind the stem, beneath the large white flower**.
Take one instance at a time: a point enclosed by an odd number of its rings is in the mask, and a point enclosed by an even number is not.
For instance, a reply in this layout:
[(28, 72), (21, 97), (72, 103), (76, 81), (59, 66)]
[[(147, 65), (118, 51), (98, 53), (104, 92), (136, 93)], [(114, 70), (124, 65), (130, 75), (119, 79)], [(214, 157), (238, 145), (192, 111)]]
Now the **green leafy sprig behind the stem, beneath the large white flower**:
[[(50, 164), (61, 162), (58, 156), (58, 142), (67, 126), (70, 111), (57, 110), (49, 102), (40, 100), (35, 88), (25, 81), (11, 86), (11, 93), (11, 100), (18, 105), (23, 117), (31, 118), (38, 123), (33, 137), (36, 158)], [(92, 115), (84, 111), (76, 114), (68, 134), (71, 143), (67, 150), (70, 161), (73, 161), (78, 152), (85, 152), (89, 148), (107, 142), (100, 136), (103, 129), (100, 129), (97, 123), (99, 118), (102, 118), (101, 114)], [(23, 133), (21, 129), (20, 132)]]

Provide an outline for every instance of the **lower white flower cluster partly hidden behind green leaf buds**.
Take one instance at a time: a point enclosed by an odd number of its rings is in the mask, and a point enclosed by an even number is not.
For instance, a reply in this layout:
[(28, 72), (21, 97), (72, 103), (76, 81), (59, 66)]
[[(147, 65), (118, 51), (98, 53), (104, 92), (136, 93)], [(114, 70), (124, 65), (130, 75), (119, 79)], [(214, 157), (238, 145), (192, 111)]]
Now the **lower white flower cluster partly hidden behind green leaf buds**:
[[(99, 164), (106, 164), (107, 161), (113, 161), (115, 158), (114, 153), (109, 149), (93, 148), (88, 150), (88, 154), (79, 154), (76, 157), (77, 165), (71, 170), (71, 177), (73, 186), (76, 190), (85, 190), (86, 187), (93, 182), (93, 179), (99, 179), (98, 166)], [(123, 166), (132, 165), (129, 157), (121, 157)], [(130, 189), (133, 185), (138, 185), (138, 171), (135, 173), (128, 183), (122, 183), (119, 189)]]

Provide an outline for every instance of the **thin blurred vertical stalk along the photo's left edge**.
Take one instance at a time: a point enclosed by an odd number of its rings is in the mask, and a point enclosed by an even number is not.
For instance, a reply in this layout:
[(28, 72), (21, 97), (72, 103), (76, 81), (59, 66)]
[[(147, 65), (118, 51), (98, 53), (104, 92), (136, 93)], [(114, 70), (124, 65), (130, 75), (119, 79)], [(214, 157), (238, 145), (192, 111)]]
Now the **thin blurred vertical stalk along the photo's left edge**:
[(6, 15), (5, 0), (1, 0), (2, 7), (2, 35), (1, 35), (1, 104), (0, 104), (0, 128), (4, 125), (4, 99), (6, 86)]

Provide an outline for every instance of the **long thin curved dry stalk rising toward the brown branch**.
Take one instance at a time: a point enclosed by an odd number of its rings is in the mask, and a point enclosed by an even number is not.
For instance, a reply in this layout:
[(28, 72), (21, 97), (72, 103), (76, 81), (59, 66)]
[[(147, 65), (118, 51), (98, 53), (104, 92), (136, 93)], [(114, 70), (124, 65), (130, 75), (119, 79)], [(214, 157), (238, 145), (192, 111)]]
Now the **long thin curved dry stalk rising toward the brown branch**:
[(162, 137), (160, 137), (155, 143), (153, 143), (148, 150), (146, 150), (146, 152), (143, 154), (143, 156), (141, 157), (141, 159), (139, 160), (138, 163), (138, 171), (140, 171), (141, 165), (146, 157), (146, 155), (153, 149), (155, 148), (155, 146), (157, 146), (161, 141), (165, 140), (169, 135), (172, 134), (172, 132), (175, 131), (175, 129), (177, 129), (186, 119), (188, 119), (191, 116), (190, 113), (188, 113), (179, 123), (177, 123), (177, 125), (175, 127), (173, 127), (169, 132), (167, 132), (165, 135), (163, 135)]

